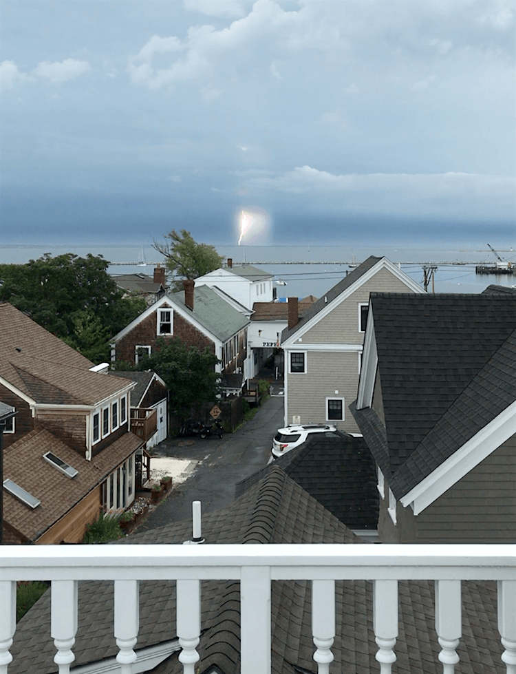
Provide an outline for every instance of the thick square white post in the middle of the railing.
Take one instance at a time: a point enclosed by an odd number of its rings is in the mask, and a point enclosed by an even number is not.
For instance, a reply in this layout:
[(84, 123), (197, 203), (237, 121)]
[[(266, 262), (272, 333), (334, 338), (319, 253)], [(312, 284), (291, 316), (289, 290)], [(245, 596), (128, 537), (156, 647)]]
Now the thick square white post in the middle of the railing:
[(270, 674), (270, 567), (242, 567), (240, 671)]

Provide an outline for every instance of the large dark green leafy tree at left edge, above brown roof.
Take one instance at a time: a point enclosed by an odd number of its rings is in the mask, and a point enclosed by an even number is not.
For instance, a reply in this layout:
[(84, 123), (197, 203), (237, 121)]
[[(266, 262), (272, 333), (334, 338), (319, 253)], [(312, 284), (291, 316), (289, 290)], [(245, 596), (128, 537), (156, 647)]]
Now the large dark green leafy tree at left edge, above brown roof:
[(109, 337), (146, 308), (123, 297), (102, 255), (49, 253), (27, 264), (0, 264), (0, 300), (10, 302), (90, 360), (107, 360)]

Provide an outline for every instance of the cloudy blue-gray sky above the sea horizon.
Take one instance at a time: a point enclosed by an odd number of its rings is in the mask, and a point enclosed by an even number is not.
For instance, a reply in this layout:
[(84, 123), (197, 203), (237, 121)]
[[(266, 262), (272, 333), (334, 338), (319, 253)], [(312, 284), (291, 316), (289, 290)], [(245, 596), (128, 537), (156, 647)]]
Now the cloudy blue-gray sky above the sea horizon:
[(3, 241), (236, 244), (244, 210), (270, 222), (261, 243), (512, 244), (515, 17), (508, 0), (3, 0)]

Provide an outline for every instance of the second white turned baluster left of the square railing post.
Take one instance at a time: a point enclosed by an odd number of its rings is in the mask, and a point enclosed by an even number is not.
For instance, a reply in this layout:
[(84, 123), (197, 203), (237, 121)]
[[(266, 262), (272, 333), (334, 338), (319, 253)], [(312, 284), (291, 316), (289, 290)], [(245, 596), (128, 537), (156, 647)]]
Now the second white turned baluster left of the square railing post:
[(140, 588), (138, 580), (115, 580), (115, 638), (120, 649), (116, 662), (120, 674), (131, 674), (136, 662), (134, 646), (140, 629)]

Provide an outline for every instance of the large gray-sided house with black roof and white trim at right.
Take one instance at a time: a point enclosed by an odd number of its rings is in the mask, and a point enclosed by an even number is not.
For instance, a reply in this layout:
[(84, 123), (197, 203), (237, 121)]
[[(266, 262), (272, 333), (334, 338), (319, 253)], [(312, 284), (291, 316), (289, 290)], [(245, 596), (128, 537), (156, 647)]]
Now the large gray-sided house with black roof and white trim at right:
[(373, 293), (352, 413), (384, 543), (516, 543), (516, 295)]

